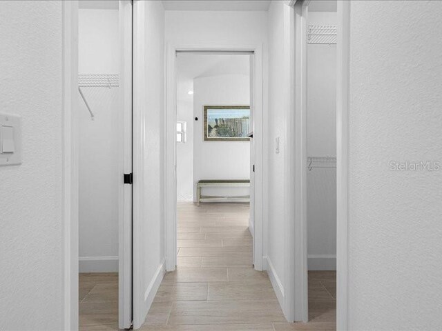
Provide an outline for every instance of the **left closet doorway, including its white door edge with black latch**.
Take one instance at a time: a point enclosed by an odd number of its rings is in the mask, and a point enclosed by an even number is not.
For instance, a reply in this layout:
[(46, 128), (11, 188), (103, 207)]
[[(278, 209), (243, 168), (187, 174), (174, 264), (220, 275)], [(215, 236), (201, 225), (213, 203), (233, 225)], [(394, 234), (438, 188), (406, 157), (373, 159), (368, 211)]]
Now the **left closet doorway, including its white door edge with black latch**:
[(131, 328), (132, 2), (78, 8), (79, 327)]

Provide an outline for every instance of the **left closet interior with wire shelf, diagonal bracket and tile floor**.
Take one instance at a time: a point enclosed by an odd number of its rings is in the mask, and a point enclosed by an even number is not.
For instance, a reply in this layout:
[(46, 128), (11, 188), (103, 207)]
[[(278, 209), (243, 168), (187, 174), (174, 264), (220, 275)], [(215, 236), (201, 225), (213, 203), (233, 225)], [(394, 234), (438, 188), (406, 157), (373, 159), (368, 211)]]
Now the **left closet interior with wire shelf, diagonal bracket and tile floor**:
[(118, 1), (80, 1), (78, 39), (79, 326), (117, 327)]

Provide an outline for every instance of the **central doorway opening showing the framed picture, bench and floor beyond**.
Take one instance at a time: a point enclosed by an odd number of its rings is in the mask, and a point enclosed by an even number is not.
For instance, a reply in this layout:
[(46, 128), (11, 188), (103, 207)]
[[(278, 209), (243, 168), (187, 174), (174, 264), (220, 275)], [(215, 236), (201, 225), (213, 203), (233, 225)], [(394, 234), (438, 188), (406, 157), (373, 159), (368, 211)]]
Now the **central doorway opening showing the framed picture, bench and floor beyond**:
[(177, 53), (177, 268), (253, 264), (251, 56)]

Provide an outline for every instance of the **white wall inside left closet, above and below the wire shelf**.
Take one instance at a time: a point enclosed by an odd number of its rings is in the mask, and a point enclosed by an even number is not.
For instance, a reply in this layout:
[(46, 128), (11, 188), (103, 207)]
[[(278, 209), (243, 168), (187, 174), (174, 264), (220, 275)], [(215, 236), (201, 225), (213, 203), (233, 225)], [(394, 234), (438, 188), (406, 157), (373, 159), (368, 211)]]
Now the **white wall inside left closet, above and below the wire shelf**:
[[(79, 73), (119, 73), (119, 11), (79, 10)], [(79, 97), (79, 271), (118, 270), (119, 88), (82, 88)]]

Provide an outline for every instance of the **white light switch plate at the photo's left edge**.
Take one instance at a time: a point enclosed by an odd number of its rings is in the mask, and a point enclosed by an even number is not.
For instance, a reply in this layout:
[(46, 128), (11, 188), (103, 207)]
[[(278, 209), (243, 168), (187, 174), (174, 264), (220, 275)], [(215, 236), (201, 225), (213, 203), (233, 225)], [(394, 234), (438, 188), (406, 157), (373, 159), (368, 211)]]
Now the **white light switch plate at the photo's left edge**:
[(0, 165), (21, 164), (21, 119), (0, 113)]

